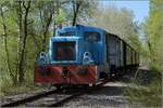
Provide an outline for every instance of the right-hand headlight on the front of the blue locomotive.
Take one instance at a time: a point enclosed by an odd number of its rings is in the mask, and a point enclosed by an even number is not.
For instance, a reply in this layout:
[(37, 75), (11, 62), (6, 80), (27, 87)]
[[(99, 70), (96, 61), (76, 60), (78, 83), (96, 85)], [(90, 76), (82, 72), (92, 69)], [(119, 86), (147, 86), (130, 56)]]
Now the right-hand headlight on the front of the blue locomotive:
[(83, 64), (84, 65), (93, 64), (93, 60), (91, 59), (91, 54), (89, 52), (84, 53)]

